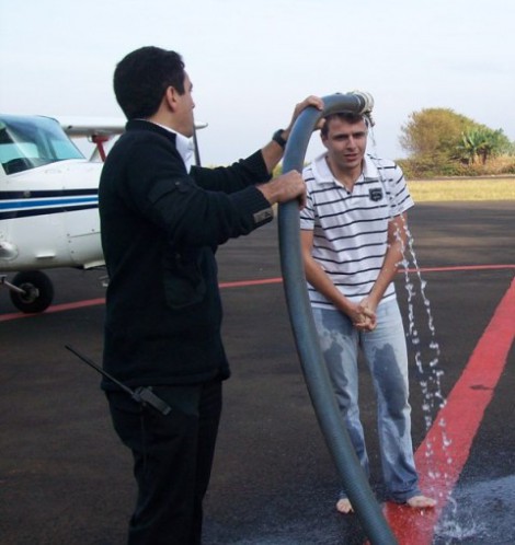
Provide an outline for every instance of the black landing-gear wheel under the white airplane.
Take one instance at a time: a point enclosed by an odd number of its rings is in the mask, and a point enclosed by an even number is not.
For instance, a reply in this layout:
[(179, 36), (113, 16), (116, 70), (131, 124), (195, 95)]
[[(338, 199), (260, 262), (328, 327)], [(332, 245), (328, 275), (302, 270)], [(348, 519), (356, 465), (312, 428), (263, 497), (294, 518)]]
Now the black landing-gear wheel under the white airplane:
[(27, 314), (43, 312), (54, 299), (54, 286), (41, 270), (19, 272), (13, 278), (12, 283), (25, 292), (11, 291), (12, 304)]

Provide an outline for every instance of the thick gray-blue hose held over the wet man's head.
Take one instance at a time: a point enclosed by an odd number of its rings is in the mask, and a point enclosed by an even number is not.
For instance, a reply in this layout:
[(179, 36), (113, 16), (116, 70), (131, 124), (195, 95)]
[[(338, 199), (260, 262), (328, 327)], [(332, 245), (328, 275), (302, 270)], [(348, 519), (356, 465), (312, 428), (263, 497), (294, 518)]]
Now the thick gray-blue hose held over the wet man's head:
[[(335, 94), (323, 97), (324, 109), (305, 109), (297, 118), (286, 144), (283, 171), (301, 172), (311, 134), (320, 119), (330, 113), (351, 111), (368, 113), (371, 96), (366, 93)], [(336, 405), (325, 362), (320, 349), (300, 251), (299, 216), (296, 201), (279, 205), (281, 264), (284, 289), (297, 351), (311, 402), (325, 442), (333, 456), (343, 486), (371, 544), (394, 545), (368, 479), (354, 452), (348, 432)]]

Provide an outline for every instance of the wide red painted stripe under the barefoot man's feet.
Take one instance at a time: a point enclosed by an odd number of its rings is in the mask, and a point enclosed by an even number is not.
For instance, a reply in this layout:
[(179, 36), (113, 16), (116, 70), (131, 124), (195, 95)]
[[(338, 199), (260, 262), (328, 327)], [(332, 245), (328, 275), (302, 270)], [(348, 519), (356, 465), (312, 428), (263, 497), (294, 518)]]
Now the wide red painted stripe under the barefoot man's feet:
[(472, 441), (506, 364), (515, 337), (515, 280), (476, 346), (460, 379), (415, 453), (424, 494), (438, 505), (414, 510), (387, 503), (385, 515), (399, 545), (430, 545), (435, 525), (467, 462)]

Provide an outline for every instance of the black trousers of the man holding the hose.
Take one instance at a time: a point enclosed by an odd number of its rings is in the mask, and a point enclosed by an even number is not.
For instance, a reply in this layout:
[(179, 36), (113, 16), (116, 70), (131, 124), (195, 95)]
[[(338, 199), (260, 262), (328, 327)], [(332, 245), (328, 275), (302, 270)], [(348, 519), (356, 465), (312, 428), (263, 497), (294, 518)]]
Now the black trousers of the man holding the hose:
[(129, 545), (199, 545), (203, 499), (221, 413), (221, 382), (156, 386), (167, 416), (124, 392), (108, 392), (114, 428), (133, 452), (138, 484)]

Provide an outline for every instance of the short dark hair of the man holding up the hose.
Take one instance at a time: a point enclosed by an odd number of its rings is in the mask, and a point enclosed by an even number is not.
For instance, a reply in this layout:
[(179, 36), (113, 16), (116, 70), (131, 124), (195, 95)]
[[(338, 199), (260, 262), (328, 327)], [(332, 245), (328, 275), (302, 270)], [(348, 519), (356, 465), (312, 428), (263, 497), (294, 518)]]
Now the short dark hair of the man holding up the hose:
[(148, 118), (173, 86), (184, 93), (184, 62), (175, 51), (147, 46), (124, 57), (114, 71), (114, 93), (127, 119)]

